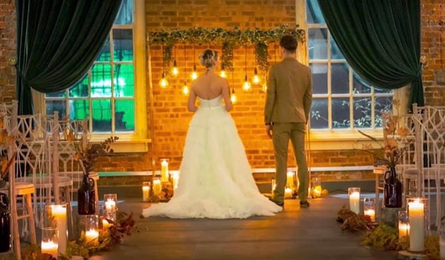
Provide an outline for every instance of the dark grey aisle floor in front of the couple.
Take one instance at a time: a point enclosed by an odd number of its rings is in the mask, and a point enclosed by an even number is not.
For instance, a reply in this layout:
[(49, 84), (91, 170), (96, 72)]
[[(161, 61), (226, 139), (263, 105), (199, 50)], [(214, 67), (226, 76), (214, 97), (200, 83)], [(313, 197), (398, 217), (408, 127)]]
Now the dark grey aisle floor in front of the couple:
[[(126, 193), (119, 209), (136, 216), (148, 203)], [(300, 209), (287, 200), (275, 217), (249, 219), (140, 219), (141, 232), (92, 260), (393, 260), (395, 253), (360, 246), (360, 234), (342, 232), (337, 211), (347, 200), (311, 200)]]

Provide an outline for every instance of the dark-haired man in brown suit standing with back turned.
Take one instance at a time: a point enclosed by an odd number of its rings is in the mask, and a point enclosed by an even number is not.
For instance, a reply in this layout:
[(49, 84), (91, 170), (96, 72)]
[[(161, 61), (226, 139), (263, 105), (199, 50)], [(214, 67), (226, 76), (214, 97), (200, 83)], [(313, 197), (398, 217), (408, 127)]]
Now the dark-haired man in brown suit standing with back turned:
[(298, 165), (300, 207), (309, 207), (309, 174), (305, 154), (305, 130), (312, 103), (311, 70), (295, 59), (297, 41), (293, 36), (280, 40), (283, 60), (269, 71), (265, 107), (267, 135), (273, 140), (276, 163), (276, 186), (271, 200), (284, 205), (286, 186), (287, 148), (289, 139), (294, 147)]

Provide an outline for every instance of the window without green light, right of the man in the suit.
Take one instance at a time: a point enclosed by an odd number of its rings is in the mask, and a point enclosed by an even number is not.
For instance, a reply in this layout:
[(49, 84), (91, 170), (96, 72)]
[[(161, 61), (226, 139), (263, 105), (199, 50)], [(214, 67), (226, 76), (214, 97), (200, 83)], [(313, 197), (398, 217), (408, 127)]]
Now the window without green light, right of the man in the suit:
[(313, 99), (311, 128), (375, 129), (392, 108), (393, 91), (372, 87), (352, 70), (326, 26), (317, 0), (306, 0)]

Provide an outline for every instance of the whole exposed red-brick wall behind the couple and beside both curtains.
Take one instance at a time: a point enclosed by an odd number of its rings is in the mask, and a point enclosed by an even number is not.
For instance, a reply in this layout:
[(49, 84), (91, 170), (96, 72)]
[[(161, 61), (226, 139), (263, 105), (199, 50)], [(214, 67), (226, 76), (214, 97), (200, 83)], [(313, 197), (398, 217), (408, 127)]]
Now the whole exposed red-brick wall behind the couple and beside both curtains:
[[(0, 3), (0, 92), (1, 100), (10, 100), (15, 91), (15, 71), (7, 64), (7, 58), (15, 55), (15, 11), (13, 0), (2, 0)], [(180, 3), (180, 4), (179, 4)], [(428, 67), (424, 69), (424, 85), (426, 102), (439, 105), (445, 102), (444, 97), (444, 4), (440, 0), (422, 0), (422, 55), (427, 57)], [(146, 0), (147, 31), (189, 28), (192, 26), (240, 28), (260, 27), (263, 29), (279, 26), (283, 23), (295, 23), (295, 0)], [(194, 57), (207, 48), (221, 50), (221, 46), (196, 46), (195, 53), (191, 45), (186, 46), (185, 74), (193, 67)], [(180, 75), (184, 75), (183, 46), (177, 46)], [(158, 81), (161, 76), (162, 60), (159, 46), (151, 48), (154, 87), (154, 121), (155, 144), (158, 158), (170, 158), (171, 169), (177, 169), (181, 160), (184, 136), (188, 122), (192, 116), (186, 111), (186, 97), (181, 95), (183, 76), (170, 79), (169, 89), (160, 89)], [(259, 86), (253, 86), (253, 91), (241, 91), (244, 78), (243, 47), (235, 49), (233, 75), (229, 74), (230, 86), (235, 87), (239, 102), (231, 112), (243, 143), (248, 159), (254, 168), (273, 167), (274, 158), (272, 143), (267, 139), (263, 127), (263, 106), (265, 94)], [(274, 46), (269, 46), (271, 61), (274, 61)], [(278, 54), (278, 52), (277, 52)], [(279, 56), (277, 57), (279, 60)], [(199, 67), (199, 71), (203, 69)], [(254, 50), (248, 48), (247, 73), (253, 75)], [(264, 77), (264, 74), (262, 75)], [(148, 79), (149, 80), (149, 79)], [(148, 85), (147, 80), (147, 85)], [(6, 94), (5, 94), (6, 93)], [(147, 104), (148, 106), (149, 104)], [(291, 155), (292, 153), (290, 153)], [(357, 151), (313, 151), (311, 165), (321, 166), (354, 166), (370, 165), (372, 158)], [(289, 166), (294, 166), (293, 156), (289, 156)], [(149, 153), (119, 154), (103, 158), (99, 166), (103, 171), (147, 171), (151, 169)], [(319, 173), (323, 179), (342, 179), (338, 173)], [(351, 178), (369, 178), (369, 173), (352, 174)], [(258, 175), (258, 178), (264, 176)], [(104, 184), (125, 183), (137, 184), (140, 178), (109, 178)]]

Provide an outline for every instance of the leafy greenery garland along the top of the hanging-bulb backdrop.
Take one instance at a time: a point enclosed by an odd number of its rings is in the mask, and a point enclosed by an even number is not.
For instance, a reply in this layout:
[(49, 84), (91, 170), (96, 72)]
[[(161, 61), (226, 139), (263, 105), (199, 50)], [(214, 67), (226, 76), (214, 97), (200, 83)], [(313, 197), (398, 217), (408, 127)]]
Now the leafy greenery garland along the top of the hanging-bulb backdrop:
[(173, 29), (162, 30), (148, 33), (148, 44), (163, 45), (163, 62), (167, 68), (172, 61), (173, 46), (176, 43), (190, 44), (222, 44), (223, 45), (223, 61), (222, 66), (225, 70), (233, 69), (233, 48), (235, 46), (252, 44), (255, 45), (257, 63), (261, 70), (268, 69), (268, 52), (267, 44), (279, 41), (285, 35), (294, 36), (297, 41), (305, 41), (305, 31), (281, 25), (276, 28), (261, 30), (259, 28), (240, 30), (237, 27), (231, 30), (223, 28), (202, 28), (194, 27), (186, 30)]

